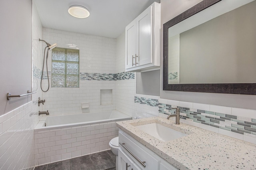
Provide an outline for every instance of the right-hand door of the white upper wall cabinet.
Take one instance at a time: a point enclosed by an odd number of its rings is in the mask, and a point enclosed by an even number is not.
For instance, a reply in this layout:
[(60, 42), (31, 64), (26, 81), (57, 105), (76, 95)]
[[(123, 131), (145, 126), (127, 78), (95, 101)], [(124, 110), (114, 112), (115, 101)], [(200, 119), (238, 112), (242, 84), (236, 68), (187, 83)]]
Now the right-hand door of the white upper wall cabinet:
[(152, 8), (150, 6), (136, 18), (136, 66), (152, 63)]

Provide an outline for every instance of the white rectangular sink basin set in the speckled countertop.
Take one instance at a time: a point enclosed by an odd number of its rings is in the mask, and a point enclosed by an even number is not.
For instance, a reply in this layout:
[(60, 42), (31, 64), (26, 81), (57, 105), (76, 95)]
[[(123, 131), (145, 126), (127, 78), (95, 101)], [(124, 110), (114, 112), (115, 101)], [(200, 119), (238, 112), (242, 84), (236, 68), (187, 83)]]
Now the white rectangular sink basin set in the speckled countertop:
[(180, 138), (180, 137), (188, 135), (188, 134), (185, 134), (182, 132), (178, 132), (177, 130), (173, 130), (172, 128), (165, 127), (158, 123), (139, 125), (139, 126), (136, 126), (136, 128), (142, 130), (143, 132), (150, 134), (151, 136), (153, 136), (159, 140), (162, 140), (163, 142), (166, 142), (169, 140), (174, 140), (176, 138)]

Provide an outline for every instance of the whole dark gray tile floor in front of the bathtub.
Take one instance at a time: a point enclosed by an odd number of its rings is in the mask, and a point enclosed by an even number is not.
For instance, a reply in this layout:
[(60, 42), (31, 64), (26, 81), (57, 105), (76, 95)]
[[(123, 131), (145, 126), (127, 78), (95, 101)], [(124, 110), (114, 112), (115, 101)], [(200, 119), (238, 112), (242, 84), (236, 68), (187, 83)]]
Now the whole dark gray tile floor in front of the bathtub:
[(80, 156), (47, 165), (34, 170), (116, 170), (116, 156), (111, 150)]

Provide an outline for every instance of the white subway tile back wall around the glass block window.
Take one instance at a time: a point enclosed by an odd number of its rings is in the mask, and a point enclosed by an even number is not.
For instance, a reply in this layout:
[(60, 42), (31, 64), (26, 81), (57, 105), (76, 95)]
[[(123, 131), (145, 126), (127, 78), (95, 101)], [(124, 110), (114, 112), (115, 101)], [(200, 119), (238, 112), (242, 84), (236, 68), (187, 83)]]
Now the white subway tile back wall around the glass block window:
[[(58, 47), (70, 48), (68, 44), (73, 44), (80, 50), (79, 88), (50, 88), (48, 92), (43, 93), (46, 100), (43, 110), (48, 110), (50, 115), (64, 115), (116, 109), (115, 81), (81, 79), (81, 75), (87, 73), (92, 76), (115, 74), (116, 39), (49, 28), (43, 28), (43, 38), (51, 44), (57, 43)], [(51, 55), (48, 60), (48, 65), (51, 65)], [(48, 67), (48, 70), (51, 71), (51, 67)], [(47, 80), (44, 80), (44, 86), (46, 85)], [(112, 105), (100, 104), (100, 90), (104, 89), (112, 90), (112, 101), (104, 100), (103, 103)], [(82, 109), (81, 103), (89, 103), (89, 108)]]

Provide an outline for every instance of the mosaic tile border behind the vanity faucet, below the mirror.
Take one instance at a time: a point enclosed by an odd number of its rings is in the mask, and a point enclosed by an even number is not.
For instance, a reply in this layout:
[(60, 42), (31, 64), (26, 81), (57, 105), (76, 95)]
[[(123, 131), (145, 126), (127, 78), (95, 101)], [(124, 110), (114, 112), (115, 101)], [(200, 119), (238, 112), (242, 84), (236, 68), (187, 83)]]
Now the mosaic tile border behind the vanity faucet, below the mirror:
[[(174, 114), (175, 111), (170, 109), (172, 106), (159, 103), (159, 113), (166, 115)], [(196, 123), (202, 123), (204, 125), (229, 130), (240, 134), (252, 134), (256, 137), (256, 120), (251, 121), (239, 120), (237, 116), (228, 115), (224, 113), (217, 113), (211, 111), (197, 110), (191, 111), (190, 108), (180, 108), (180, 119), (186, 119), (188, 121), (194, 121)], [(240, 119), (242, 119), (240, 117)]]

